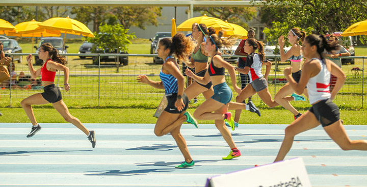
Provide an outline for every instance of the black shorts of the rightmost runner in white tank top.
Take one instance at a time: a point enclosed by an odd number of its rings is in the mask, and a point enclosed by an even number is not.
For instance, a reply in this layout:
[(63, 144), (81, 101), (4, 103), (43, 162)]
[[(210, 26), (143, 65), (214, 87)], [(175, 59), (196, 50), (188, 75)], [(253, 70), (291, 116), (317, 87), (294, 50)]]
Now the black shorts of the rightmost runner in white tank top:
[(340, 119), (339, 109), (330, 99), (321, 100), (313, 104), (308, 111), (315, 115), (323, 127), (331, 125)]

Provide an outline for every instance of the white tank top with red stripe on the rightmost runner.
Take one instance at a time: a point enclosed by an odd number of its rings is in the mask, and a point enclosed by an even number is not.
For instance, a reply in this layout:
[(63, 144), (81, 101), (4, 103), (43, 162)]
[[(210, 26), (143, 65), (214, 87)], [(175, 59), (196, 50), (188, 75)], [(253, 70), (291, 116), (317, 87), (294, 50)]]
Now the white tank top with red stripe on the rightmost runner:
[(312, 104), (318, 100), (329, 99), (330, 93), (330, 72), (320, 59), (313, 58), (320, 63), (321, 70), (319, 74), (310, 78), (307, 83), (308, 99)]

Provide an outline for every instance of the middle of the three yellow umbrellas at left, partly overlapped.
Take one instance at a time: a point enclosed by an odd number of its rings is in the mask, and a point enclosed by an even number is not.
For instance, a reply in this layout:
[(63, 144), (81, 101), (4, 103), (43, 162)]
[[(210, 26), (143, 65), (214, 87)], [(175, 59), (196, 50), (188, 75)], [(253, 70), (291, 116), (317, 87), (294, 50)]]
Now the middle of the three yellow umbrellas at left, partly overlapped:
[[(60, 31), (41, 29), (39, 24), (42, 22), (32, 19), (32, 21), (25, 21), (15, 25), (18, 32), (8, 32), (7, 36), (17, 36), (17, 37), (32, 37), (32, 46), (34, 45), (34, 37), (58, 37), (61, 36)], [(32, 47), (33, 53), (33, 47)]]

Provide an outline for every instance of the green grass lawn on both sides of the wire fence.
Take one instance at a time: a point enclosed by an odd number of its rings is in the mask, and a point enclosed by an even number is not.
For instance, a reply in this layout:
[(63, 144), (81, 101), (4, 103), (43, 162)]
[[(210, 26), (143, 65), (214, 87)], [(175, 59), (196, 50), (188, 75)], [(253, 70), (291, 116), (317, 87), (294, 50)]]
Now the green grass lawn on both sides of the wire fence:
[[(83, 43), (82, 40), (67, 40), (67, 45), (69, 45), (69, 53), (77, 53), (78, 48)], [(32, 50), (32, 44), (30, 42), (20, 43), (23, 48), (23, 52), (28, 53)], [(130, 54), (149, 54), (150, 41), (148, 39), (134, 39), (133, 44), (129, 46)], [(358, 46), (355, 48), (356, 56), (367, 56), (367, 47)], [(70, 69), (85, 69), (88, 71), (97, 72), (97, 68), (92, 68), (91, 59), (79, 59), (78, 57), (69, 57), (68, 66)], [(27, 65), (25, 63), (25, 57), (23, 57), (22, 64), (16, 64), (17, 68), (26, 71)], [(363, 61), (361, 59), (356, 59), (354, 65), (343, 65), (343, 69), (346, 70), (348, 76), (352, 76), (350, 71), (353, 67), (362, 67)], [(134, 71), (136, 73), (140, 67), (145, 67), (146, 69), (159, 69), (162, 65), (152, 64), (152, 58), (143, 57), (130, 57), (129, 65), (120, 67), (120, 71)], [(282, 71), (289, 64), (279, 65), (279, 69)], [(138, 68), (138, 69), (137, 69)], [(130, 70), (126, 70), (130, 69)], [(112, 73), (117, 73), (114, 66), (105, 67), (103, 71), (111, 71)], [(143, 71), (146, 74), (149, 72)], [(273, 73), (273, 71), (272, 71)], [(272, 74), (271, 73), (271, 74)], [(282, 74), (282, 72), (277, 72), (277, 74)], [(80, 79), (81, 77), (70, 77), (70, 81), (73, 79)], [(270, 79), (271, 77), (269, 77)], [(88, 79), (92, 84), (96, 82), (96, 79)], [(128, 81), (122, 80), (121, 82), (135, 82), (135, 78), (131, 78)], [(230, 84), (230, 83), (228, 83)], [(360, 95), (354, 93), (360, 93), (360, 82), (352, 81), (351, 83), (346, 83), (340, 94), (335, 99), (335, 102), (340, 106), (340, 112), (342, 114), (341, 118), (344, 119), (345, 124), (367, 124), (366, 116), (366, 106), (360, 109)], [(364, 82), (364, 84), (366, 84)], [(277, 87), (277, 90), (281, 85)], [(74, 85), (74, 90), (83, 90), (82, 87)], [(118, 89), (118, 87), (113, 88)], [(108, 92), (111, 90), (108, 87), (102, 92)], [(274, 86), (269, 85), (269, 90), (273, 94)], [(26, 96), (22, 96), (22, 90), (13, 90), (15, 97), (12, 98), (12, 107), (9, 106), (9, 99), (6, 97), (8, 92), (0, 90), (1, 98), (0, 111), (4, 116), (0, 117), (0, 122), (29, 122), (29, 119), (25, 115), (24, 111), (20, 107), (20, 101)], [(41, 91), (33, 91), (34, 93), (39, 93)], [(131, 91), (134, 93), (134, 90)], [(157, 92), (155, 89), (148, 88), (144, 90), (145, 93)], [(163, 93), (163, 91), (161, 91)], [(344, 94), (345, 93), (345, 94)], [(98, 100), (96, 95), (88, 96), (88, 93), (78, 92), (75, 98), (64, 99), (65, 103), (69, 106), (70, 113), (79, 118), (84, 123), (155, 123), (156, 118), (152, 117), (158, 106), (159, 99), (145, 99), (137, 97), (130, 97), (130, 99), (121, 99), (120, 95), (115, 95), (111, 98), (102, 98), (98, 106)], [(134, 95), (134, 94), (133, 94)], [(234, 94), (237, 95), (237, 94)], [(88, 96), (88, 97), (87, 97)], [(9, 97), (9, 96), (8, 96)], [(253, 113), (244, 111), (240, 120), (240, 123), (265, 123), (265, 124), (288, 124), (293, 121), (292, 114), (278, 106), (275, 109), (269, 109), (262, 101), (258, 98), (254, 98), (255, 104), (261, 110), (262, 116), (259, 118)], [(80, 99), (84, 98), (84, 99)], [(201, 96), (202, 98), (202, 96)], [(199, 103), (201, 103), (200, 100)], [(367, 104), (364, 102), (365, 105)], [(309, 108), (308, 102), (292, 102), (296, 109), (304, 113)], [(189, 111), (193, 113), (198, 104), (191, 105)], [(60, 115), (56, 110), (52, 109), (50, 104), (35, 106), (35, 115), (38, 122), (55, 122), (64, 123)], [(135, 117), (133, 117), (135, 116)], [(214, 123), (214, 121), (200, 121), (200, 123)]]

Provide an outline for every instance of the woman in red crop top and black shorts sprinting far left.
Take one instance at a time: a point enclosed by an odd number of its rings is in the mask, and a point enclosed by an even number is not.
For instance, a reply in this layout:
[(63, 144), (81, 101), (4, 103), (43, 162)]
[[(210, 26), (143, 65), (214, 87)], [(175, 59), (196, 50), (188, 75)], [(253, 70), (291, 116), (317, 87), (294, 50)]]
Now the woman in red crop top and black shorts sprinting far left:
[(47, 104), (52, 103), (54, 108), (61, 114), (61, 116), (67, 121), (81, 129), (92, 143), (94, 148), (96, 140), (94, 137), (94, 130), (88, 130), (77, 118), (69, 113), (69, 110), (62, 100), (60, 90), (55, 86), (54, 79), (56, 71), (64, 71), (64, 88), (66, 91), (70, 90), (69, 81), (69, 68), (65, 66), (66, 60), (59, 56), (58, 50), (49, 43), (41, 45), (38, 52), (38, 57), (43, 60), (41, 68), (35, 70), (32, 65), (32, 55), (27, 57), (28, 67), (33, 78), (42, 75), (41, 81), (44, 86), (43, 93), (37, 93), (23, 99), (20, 104), (31, 120), (33, 127), (27, 138), (33, 137), (36, 132), (41, 130), (41, 126), (38, 125), (36, 118), (33, 114), (32, 104)]

